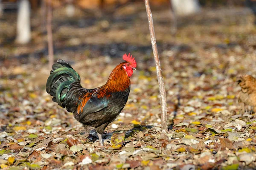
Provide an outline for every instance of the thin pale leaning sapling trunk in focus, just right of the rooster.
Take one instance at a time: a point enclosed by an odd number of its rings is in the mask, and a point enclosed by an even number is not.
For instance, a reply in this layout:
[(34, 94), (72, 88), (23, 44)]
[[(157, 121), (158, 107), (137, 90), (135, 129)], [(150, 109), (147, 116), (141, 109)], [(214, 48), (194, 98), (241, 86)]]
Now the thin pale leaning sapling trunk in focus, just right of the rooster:
[(165, 92), (165, 88), (164, 88), (164, 84), (163, 84), (162, 69), (161, 69), (160, 60), (159, 60), (158, 51), (157, 51), (156, 37), (154, 34), (153, 17), (152, 17), (152, 13), (151, 13), (151, 9), (150, 9), (148, 0), (145, 0), (145, 7), (146, 7), (147, 14), (148, 14), (148, 26), (149, 26), (149, 32), (150, 32), (150, 37), (151, 37), (151, 45), (152, 45), (154, 60), (156, 63), (156, 68), (157, 68), (157, 79), (158, 79), (158, 84), (159, 84), (160, 102), (161, 102), (161, 108), (162, 108), (161, 123), (162, 123), (163, 130), (167, 131), (166, 92)]

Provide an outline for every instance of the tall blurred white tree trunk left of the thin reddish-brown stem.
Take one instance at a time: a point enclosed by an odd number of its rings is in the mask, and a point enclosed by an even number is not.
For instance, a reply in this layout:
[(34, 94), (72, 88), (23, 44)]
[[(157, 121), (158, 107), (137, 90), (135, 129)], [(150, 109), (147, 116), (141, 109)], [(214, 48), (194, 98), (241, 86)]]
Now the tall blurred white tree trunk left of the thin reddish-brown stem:
[(26, 44), (31, 40), (30, 4), (28, 0), (20, 0), (17, 13), (16, 42)]

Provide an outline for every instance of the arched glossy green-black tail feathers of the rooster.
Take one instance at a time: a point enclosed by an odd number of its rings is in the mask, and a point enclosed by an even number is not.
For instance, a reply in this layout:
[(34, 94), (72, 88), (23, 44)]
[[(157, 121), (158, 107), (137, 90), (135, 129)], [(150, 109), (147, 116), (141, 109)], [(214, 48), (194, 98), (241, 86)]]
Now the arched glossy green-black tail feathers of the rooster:
[(65, 97), (70, 88), (70, 84), (73, 82), (80, 83), (79, 74), (69, 63), (58, 59), (57, 63), (52, 65), (52, 71), (46, 83), (46, 91), (53, 96), (52, 101), (57, 102), (58, 105), (65, 108)]

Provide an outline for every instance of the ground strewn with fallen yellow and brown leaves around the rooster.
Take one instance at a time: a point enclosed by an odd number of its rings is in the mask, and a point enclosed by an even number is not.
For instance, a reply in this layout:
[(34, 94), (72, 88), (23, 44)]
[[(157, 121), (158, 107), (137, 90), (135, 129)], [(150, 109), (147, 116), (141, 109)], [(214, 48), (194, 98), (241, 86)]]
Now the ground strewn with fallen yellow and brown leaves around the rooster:
[[(107, 17), (54, 12), (55, 59), (65, 59), (86, 88), (103, 85), (131, 52), (137, 71), (129, 100), (108, 125), (105, 146), (52, 102), (47, 37), (33, 14), (33, 41), (16, 45), (15, 14), (0, 19), (0, 167), (2, 169), (254, 169), (256, 115), (241, 112), (238, 74), (256, 75), (256, 30), (245, 8), (204, 9), (180, 18), (171, 34), (168, 8), (153, 10), (166, 85), (169, 132), (160, 103), (148, 21), (142, 5)], [(2, 55), (3, 54), (3, 55)]]

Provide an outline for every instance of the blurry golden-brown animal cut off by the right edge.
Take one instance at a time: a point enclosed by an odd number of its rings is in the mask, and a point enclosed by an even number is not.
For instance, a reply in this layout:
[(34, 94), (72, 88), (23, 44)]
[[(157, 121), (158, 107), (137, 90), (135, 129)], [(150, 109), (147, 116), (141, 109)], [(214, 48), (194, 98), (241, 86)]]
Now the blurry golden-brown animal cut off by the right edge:
[(237, 82), (241, 87), (238, 102), (242, 102), (243, 112), (244, 104), (253, 107), (252, 111), (256, 112), (256, 79), (250, 75), (243, 75), (238, 77)]

